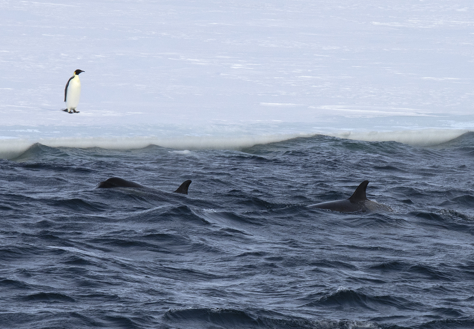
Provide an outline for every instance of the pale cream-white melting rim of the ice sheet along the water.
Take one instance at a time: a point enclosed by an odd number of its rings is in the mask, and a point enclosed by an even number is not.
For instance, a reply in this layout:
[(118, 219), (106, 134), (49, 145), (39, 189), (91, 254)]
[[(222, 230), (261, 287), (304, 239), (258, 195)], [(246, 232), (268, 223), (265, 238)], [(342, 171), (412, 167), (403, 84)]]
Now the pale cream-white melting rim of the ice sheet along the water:
[[(431, 146), (452, 141), (467, 133), (465, 129), (419, 129), (401, 131), (315, 131), (314, 133), (255, 134), (229, 136), (189, 136), (179, 137), (64, 137), (40, 138), (35, 141), (20, 138), (0, 139), (0, 159), (14, 159), (22, 156), (35, 143), (50, 147), (92, 148), (99, 147), (109, 150), (132, 150), (158, 145), (174, 150), (182, 150), (188, 155), (189, 150), (242, 150), (256, 144), (282, 142), (296, 137), (327, 135), (349, 140), (367, 142), (394, 141), (412, 146)], [(21, 159), (21, 157), (19, 158)]]

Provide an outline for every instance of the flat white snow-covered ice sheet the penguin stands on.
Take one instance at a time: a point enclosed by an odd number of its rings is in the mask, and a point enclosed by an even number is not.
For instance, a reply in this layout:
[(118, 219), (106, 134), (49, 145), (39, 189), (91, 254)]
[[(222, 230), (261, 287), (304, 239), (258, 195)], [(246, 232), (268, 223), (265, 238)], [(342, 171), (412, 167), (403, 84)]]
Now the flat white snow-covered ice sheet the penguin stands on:
[[(0, 1), (0, 157), (474, 129), (465, 0)], [(81, 73), (79, 114), (64, 86)]]

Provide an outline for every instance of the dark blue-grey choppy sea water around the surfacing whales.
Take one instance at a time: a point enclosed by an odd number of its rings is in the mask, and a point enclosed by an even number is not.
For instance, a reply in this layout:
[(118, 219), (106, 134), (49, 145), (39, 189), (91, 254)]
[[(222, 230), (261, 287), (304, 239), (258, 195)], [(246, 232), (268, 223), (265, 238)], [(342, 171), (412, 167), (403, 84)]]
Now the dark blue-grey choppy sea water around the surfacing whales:
[[(474, 133), (0, 160), (1, 328), (474, 328)], [(96, 189), (119, 176), (149, 188)], [(191, 179), (189, 195), (170, 193)], [(307, 208), (368, 179), (380, 213)]]

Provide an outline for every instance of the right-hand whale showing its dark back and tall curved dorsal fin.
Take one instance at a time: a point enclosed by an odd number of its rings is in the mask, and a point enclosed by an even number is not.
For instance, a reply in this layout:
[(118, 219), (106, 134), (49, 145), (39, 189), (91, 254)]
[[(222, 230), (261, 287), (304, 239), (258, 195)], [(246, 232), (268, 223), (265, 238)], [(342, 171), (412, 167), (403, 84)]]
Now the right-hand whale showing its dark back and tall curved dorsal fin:
[(367, 210), (392, 211), (392, 208), (390, 208), (387, 205), (379, 204), (375, 201), (371, 201), (367, 199), (367, 196), (365, 196), (365, 190), (367, 189), (368, 184), (369, 184), (368, 180), (365, 180), (362, 183), (360, 183), (360, 185), (356, 188), (356, 191), (348, 199), (321, 202), (319, 204), (309, 205), (308, 207), (328, 209), (332, 211), (338, 211), (340, 213), (354, 213), (357, 211), (367, 211)]

